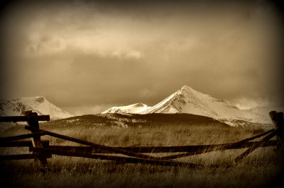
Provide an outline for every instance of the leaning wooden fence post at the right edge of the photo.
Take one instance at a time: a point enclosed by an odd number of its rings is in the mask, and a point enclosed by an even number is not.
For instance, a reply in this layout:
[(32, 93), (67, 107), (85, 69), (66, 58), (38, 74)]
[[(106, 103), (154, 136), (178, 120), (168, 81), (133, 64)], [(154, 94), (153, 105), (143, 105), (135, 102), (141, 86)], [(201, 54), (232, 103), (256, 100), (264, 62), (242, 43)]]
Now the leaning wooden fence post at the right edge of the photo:
[(277, 139), (279, 145), (283, 148), (284, 144), (284, 121), (283, 121), (283, 112), (271, 111), (269, 112), (271, 121), (274, 124), (276, 130), (278, 130)]

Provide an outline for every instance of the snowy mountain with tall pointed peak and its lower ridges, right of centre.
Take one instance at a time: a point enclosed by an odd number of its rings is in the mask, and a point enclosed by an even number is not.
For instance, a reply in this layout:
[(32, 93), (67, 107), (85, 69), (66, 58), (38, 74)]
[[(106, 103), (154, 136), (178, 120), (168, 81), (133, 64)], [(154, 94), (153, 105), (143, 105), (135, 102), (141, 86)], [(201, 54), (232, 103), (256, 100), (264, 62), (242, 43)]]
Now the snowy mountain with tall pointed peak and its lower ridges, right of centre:
[(189, 86), (183, 86), (168, 98), (153, 105), (153, 107), (148, 107), (148, 105), (143, 103), (136, 103), (122, 107), (111, 107), (109, 110), (102, 112), (102, 114), (187, 113), (212, 117), (231, 126), (244, 126), (248, 123), (272, 124), (268, 113), (273, 110), (283, 111), (284, 107), (254, 107), (249, 110), (242, 110), (224, 100), (200, 93)]

